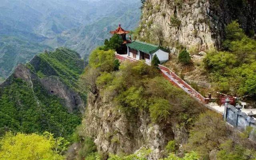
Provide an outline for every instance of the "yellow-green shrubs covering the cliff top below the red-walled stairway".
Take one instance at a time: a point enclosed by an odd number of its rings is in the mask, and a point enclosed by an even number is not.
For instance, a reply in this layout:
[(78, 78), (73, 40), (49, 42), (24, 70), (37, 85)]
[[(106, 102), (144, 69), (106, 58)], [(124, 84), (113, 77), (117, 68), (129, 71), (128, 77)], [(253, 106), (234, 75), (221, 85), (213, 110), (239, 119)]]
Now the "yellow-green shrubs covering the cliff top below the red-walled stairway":
[(100, 93), (127, 115), (144, 110), (155, 123), (172, 119), (186, 125), (202, 111), (200, 104), (143, 62), (123, 62), (118, 72), (102, 73), (97, 84)]

